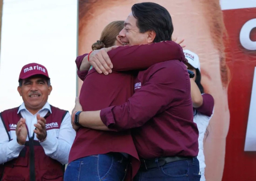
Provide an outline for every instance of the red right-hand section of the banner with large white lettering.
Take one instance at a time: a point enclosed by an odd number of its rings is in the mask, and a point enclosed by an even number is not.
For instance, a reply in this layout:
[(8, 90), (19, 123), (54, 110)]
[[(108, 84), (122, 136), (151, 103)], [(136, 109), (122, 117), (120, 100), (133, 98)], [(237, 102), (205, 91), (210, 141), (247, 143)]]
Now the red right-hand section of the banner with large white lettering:
[(256, 1), (228, 1), (222, 8), (231, 75), (222, 180), (256, 180)]

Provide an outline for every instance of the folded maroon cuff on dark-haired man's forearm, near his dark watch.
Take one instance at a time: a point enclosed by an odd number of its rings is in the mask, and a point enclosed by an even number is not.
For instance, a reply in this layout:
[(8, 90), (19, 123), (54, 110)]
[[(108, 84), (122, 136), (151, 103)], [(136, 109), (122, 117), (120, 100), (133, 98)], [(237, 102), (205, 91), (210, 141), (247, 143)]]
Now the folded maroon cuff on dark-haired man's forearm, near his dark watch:
[(118, 129), (115, 128), (115, 119), (112, 114), (112, 109), (115, 106), (111, 106), (109, 108), (101, 109), (100, 111), (100, 118), (101, 121), (110, 129), (114, 131), (118, 131)]

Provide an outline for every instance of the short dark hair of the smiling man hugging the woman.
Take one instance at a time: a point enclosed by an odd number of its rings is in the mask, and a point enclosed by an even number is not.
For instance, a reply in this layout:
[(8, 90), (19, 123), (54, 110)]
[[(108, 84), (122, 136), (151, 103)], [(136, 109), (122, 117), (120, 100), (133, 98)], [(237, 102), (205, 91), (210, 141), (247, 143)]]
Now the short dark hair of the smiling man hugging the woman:
[(132, 14), (137, 19), (139, 32), (156, 32), (153, 42), (171, 40), (173, 23), (167, 9), (153, 2), (141, 2), (132, 6)]

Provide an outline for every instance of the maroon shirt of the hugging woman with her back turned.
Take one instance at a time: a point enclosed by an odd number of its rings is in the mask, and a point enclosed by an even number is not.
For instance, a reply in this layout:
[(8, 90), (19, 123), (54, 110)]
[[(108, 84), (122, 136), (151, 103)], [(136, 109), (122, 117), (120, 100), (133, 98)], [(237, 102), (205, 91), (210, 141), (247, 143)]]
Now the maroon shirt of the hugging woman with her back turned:
[[(78, 76), (83, 80), (80, 91), (80, 103), (83, 111), (100, 110), (113, 105), (122, 105), (134, 93), (134, 75), (130, 70), (147, 69), (155, 63), (167, 60), (184, 61), (184, 53), (179, 44), (173, 41), (144, 44), (141, 46), (119, 47), (109, 53), (113, 63), (113, 72), (103, 75), (95, 69), (81, 72), (80, 65), (87, 55), (77, 57), (75, 61)], [(109, 152), (128, 153), (132, 156), (133, 176), (139, 168), (139, 158), (130, 130), (123, 132), (101, 131), (81, 127), (72, 145), (69, 162), (85, 156)]]

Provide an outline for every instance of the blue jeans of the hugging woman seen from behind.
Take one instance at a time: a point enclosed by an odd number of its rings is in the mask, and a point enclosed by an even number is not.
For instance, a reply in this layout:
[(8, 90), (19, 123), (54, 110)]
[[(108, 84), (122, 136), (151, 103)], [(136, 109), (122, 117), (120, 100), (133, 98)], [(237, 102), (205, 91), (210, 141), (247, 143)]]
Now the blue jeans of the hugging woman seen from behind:
[(128, 159), (121, 153), (92, 155), (72, 161), (66, 167), (65, 181), (122, 181)]

